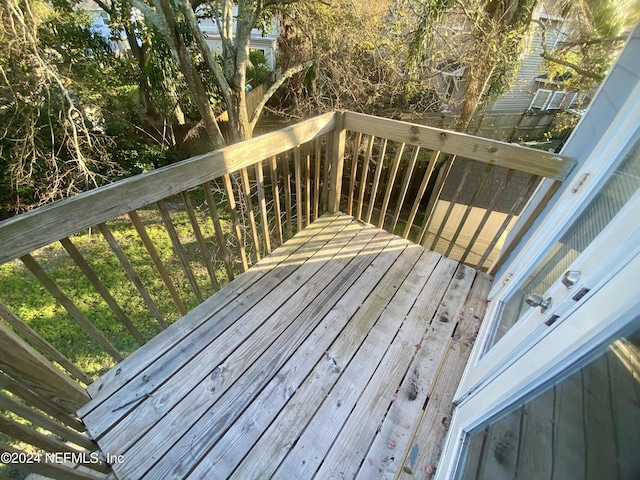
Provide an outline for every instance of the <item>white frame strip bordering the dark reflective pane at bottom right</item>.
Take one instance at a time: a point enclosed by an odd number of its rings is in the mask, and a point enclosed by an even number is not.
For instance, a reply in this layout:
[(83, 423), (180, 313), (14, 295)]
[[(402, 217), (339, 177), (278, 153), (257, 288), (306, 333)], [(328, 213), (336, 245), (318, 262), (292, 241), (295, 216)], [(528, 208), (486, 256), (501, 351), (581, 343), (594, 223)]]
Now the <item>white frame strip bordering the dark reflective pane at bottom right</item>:
[(483, 385), (458, 405), (436, 480), (453, 478), (467, 432), (570, 368), (638, 316), (638, 272), (640, 254), (557, 325), (553, 335), (543, 337), (490, 384)]

